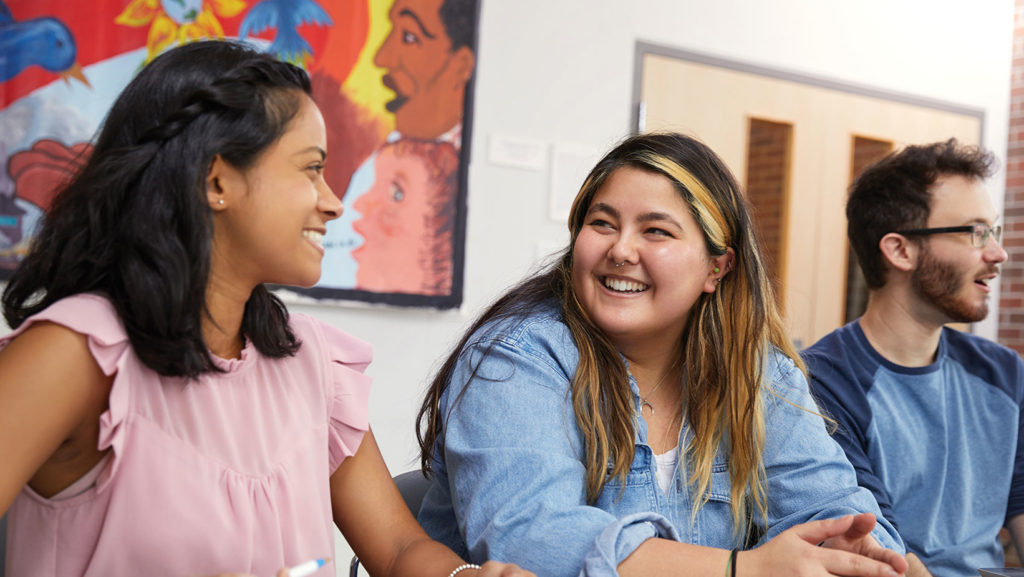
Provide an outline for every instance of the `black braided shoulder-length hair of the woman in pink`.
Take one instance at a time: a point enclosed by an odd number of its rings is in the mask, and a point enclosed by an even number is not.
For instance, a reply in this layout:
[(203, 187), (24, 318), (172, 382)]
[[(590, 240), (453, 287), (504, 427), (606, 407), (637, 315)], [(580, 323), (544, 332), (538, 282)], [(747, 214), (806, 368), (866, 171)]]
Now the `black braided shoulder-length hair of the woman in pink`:
[[(139, 359), (162, 375), (218, 370), (203, 339), (214, 157), (245, 169), (310, 93), (301, 69), (242, 44), (196, 42), (153, 60), (118, 96), (88, 162), (54, 199), (3, 294), (11, 327), (78, 293), (108, 296)], [(242, 331), (263, 355), (299, 342), (263, 286)]]

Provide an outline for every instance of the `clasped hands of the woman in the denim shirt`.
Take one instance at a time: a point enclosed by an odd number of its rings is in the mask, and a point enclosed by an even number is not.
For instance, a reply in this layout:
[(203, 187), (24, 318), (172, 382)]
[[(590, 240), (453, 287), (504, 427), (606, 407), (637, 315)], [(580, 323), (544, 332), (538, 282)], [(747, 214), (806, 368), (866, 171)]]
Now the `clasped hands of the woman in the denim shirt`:
[[(862, 513), (811, 521), (783, 531), (764, 546), (737, 553), (737, 575), (843, 575), (895, 577), (906, 561), (869, 535), (874, 516)], [(821, 543), (824, 546), (819, 547)]]

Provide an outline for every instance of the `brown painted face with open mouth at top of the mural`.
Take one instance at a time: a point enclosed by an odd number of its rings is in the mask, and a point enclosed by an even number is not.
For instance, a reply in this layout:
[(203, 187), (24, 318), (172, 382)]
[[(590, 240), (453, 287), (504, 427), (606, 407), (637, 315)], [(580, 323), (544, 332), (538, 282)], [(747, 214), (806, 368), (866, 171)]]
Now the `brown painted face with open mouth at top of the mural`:
[(470, 47), (453, 50), (440, 16), (443, 0), (395, 0), (391, 32), (374, 64), (394, 91), (386, 105), (402, 136), (437, 138), (462, 122), (466, 82), (473, 73)]

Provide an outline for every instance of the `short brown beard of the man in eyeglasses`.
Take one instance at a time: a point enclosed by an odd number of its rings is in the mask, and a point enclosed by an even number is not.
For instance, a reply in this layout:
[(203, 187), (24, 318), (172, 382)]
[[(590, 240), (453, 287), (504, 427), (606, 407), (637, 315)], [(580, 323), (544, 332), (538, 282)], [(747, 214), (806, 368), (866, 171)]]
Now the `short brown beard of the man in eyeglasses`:
[(950, 262), (932, 256), (928, 244), (922, 244), (921, 262), (910, 277), (910, 286), (927, 302), (955, 323), (976, 323), (988, 316), (988, 301), (972, 304), (959, 296), (964, 275)]

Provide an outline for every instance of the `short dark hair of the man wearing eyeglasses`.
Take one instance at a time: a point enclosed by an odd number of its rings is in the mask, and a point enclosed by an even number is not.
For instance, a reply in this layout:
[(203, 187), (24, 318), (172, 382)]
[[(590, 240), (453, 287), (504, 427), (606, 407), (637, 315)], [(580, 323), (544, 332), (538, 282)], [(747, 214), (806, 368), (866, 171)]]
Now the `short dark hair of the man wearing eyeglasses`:
[(871, 166), (850, 186), (846, 203), (847, 236), (869, 289), (886, 284), (882, 237), (926, 225), (931, 213), (931, 188), (940, 176), (987, 178), (994, 159), (978, 147), (950, 138), (906, 147)]

